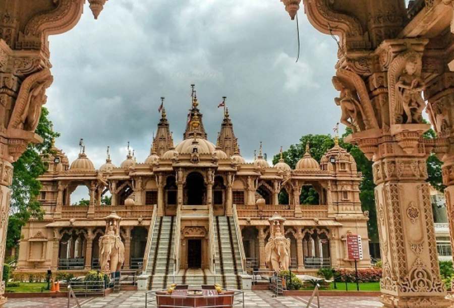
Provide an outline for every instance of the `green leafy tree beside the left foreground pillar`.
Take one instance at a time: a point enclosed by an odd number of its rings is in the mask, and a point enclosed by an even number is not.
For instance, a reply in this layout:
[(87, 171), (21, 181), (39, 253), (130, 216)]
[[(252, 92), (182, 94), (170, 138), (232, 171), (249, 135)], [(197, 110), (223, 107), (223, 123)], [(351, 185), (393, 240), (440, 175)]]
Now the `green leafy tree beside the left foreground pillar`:
[(37, 200), (41, 183), (37, 177), (43, 174), (47, 167), (41, 160), (40, 152), (44, 155), (51, 153), (52, 138), (60, 134), (53, 132), (52, 122), (47, 118), (49, 111), (42, 107), (36, 134), (43, 138), (40, 144), (29, 144), (25, 152), (13, 163), (13, 182), (11, 185), (10, 217), (8, 220), (7, 248), (15, 247), (21, 237), (21, 228), (30, 217), (41, 219), (43, 211)]

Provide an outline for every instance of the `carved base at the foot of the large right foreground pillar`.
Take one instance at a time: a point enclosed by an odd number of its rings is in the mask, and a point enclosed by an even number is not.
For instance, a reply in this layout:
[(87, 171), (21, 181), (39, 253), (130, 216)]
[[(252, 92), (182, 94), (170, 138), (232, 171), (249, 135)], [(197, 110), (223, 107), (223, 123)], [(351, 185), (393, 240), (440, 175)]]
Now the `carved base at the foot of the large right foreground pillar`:
[(382, 294), (380, 301), (384, 307), (396, 308), (396, 307), (418, 307), (418, 308), (445, 308), (451, 307), (454, 303), (444, 296), (432, 295), (432, 296), (397, 296)]

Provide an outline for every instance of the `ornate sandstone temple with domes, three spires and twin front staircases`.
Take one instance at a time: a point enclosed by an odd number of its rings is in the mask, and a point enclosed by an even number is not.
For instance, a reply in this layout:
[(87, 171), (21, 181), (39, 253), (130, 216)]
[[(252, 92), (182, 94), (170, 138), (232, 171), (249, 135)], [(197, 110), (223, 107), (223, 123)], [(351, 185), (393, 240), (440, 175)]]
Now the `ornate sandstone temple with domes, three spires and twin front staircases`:
[[(105, 232), (104, 217), (112, 211), (122, 217), (123, 268), (142, 270), (153, 288), (165, 287), (166, 276), (174, 271), (183, 279), (188, 270), (241, 287), (240, 274), (268, 268), (267, 219), (275, 213), (286, 219), (291, 270), (353, 268), (346, 251), (349, 233), (362, 238), (359, 266), (370, 266), (361, 173), (337, 142), (320, 163), (307, 147), (292, 170), (282, 156), (270, 166), (261, 145), (255, 160), (246, 162), (228, 109), (216, 144), (207, 140), (195, 95), (188, 118), (184, 139), (175, 147), (162, 109), (144, 162), (128, 151), (115, 166), (107, 153), (96, 169), (84, 147), (70, 164), (53, 146), (53, 154), (43, 157), (48, 170), (39, 177), (44, 219), (32, 219), (22, 228), (16, 275), (99, 268), (99, 238)], [(88, 188), (89, 200), (74, 205), (71, 194), (79, 186)], [(318, 204), (300, 204), (307, 187), (317, 192)], [(279, 204), (279, 199), (288, 202)]]

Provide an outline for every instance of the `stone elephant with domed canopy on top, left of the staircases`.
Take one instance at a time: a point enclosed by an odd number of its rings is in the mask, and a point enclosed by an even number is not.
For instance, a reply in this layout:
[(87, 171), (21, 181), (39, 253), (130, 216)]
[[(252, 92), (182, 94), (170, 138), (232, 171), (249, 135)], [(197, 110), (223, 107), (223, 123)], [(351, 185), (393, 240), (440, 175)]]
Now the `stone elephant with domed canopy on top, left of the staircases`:
[(105, 217), (105, 235), (99, 238), (99, 263), (101, 271), (109, 274), (120, 271), (125, 261), (125, 245), (120, 237), (121, 218), (112, 211)]

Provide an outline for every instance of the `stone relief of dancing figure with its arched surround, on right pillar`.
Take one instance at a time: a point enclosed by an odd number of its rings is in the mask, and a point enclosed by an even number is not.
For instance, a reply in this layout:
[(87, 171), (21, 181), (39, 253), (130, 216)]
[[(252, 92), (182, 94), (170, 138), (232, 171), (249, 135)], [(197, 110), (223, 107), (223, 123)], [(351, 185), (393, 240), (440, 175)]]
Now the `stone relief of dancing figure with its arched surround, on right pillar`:
[(396, 56), (388, 71), (391, 124), (419, 124), (426, 103), (422, 98), (422, 57), (410, 50)]

